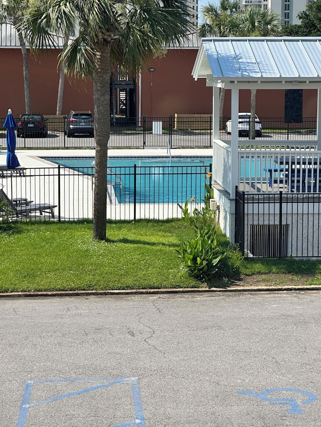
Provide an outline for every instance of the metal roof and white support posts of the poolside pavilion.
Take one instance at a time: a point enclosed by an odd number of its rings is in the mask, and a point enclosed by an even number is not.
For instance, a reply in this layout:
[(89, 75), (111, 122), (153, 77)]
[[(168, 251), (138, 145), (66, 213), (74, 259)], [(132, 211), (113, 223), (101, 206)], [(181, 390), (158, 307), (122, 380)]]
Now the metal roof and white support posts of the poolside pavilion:
[(317, 89), (317, 146), (321, 150), (321, 38), (249, 37), (202, 39), (192, 76), (213, 87), (213, 142), (219, 134), (220, 88), (231, 89), (232, 195), (238, 172), (241, 89)]

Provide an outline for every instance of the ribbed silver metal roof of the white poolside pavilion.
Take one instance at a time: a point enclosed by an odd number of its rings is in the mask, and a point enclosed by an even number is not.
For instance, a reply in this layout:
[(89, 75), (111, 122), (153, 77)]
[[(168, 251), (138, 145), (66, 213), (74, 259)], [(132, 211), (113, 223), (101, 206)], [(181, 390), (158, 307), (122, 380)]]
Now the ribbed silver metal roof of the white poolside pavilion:
[(321, 38), (214, 37), (202, 44), (214, 78), (222, 81), (321, 79)]

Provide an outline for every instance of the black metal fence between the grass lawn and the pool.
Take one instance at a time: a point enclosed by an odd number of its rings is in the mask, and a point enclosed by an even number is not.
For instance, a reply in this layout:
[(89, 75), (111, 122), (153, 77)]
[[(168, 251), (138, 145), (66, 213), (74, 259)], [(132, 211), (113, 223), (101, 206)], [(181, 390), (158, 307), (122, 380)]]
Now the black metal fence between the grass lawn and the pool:
[[(202, 206), (207, 166), (125, 166), (107, 171), (107, 219), (182, 216), (178, 203)], [(0, 175), (2, 219), (78, 220), (93, 217), (94, 168), (27, 168)]]

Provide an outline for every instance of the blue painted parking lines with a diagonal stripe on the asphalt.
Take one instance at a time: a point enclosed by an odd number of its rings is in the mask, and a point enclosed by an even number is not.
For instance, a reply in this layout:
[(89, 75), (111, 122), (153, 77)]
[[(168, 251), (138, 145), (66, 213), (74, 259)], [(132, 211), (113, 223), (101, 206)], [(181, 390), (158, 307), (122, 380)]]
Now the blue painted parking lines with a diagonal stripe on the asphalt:
[[(72, 391), (70, 393), (61, 394), (59, 396), (50, 397), (48, 399), (40, 400), (37, 402), (30, 403), (30, 397), (32, 392), (32, 387), (34, 384), (39, 383), (50, 383), (50, 382), (84, 382), (84, 381), (104, 381), (103, 384), (96, 385), (94, 387), (88, 387), (83, 388), (77, 391)], [(40, 379), (40, 380), (33, 380), (33, 381), (27, 381), (25, 385), (25, 391), (23, 394), (21, 406), (20, 406), (20, 412), (17, 422), (17, 427), (25, 427), (28, 409), (44, 404), (53, 402), (56, 400), (65, 399), (67, 397), (72, 397), (75, 395), (79, 395), (82, 393), (87, 393), (94, 390), (99, 390), (101, 388), (110, 387), (115, 384), (120, 383), (130, 383), (131, 384), (131, 391), (132, 391), (132, 397), (133, 397), (133, 403), (134, 403), (134, 409), (135, 409), (135, 419), (130, 420), (128, 422), (125, 422), (123, 424), (114, 425), (113, 427), (126, 427), (127, 425), (139, 425), (139, 427), (145, 427), (145, 420), (144, 415), (142, 411), (142, 404), (141, 404), (141, 397), (140, 397), (140, 389), (139, 389), (139, 383), (138, 378), (72, 378), (72, 379)]]

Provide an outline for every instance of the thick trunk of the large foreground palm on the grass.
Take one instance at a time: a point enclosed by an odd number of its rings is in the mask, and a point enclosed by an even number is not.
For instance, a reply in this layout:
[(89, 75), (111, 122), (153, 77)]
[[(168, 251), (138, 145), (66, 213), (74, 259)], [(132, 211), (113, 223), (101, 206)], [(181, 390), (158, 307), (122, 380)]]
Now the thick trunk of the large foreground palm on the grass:
[(110, 48), (96, 46), (93, 75), (95, 116), (94, 239), (106, 239), (107, 147), (110, 134)]

